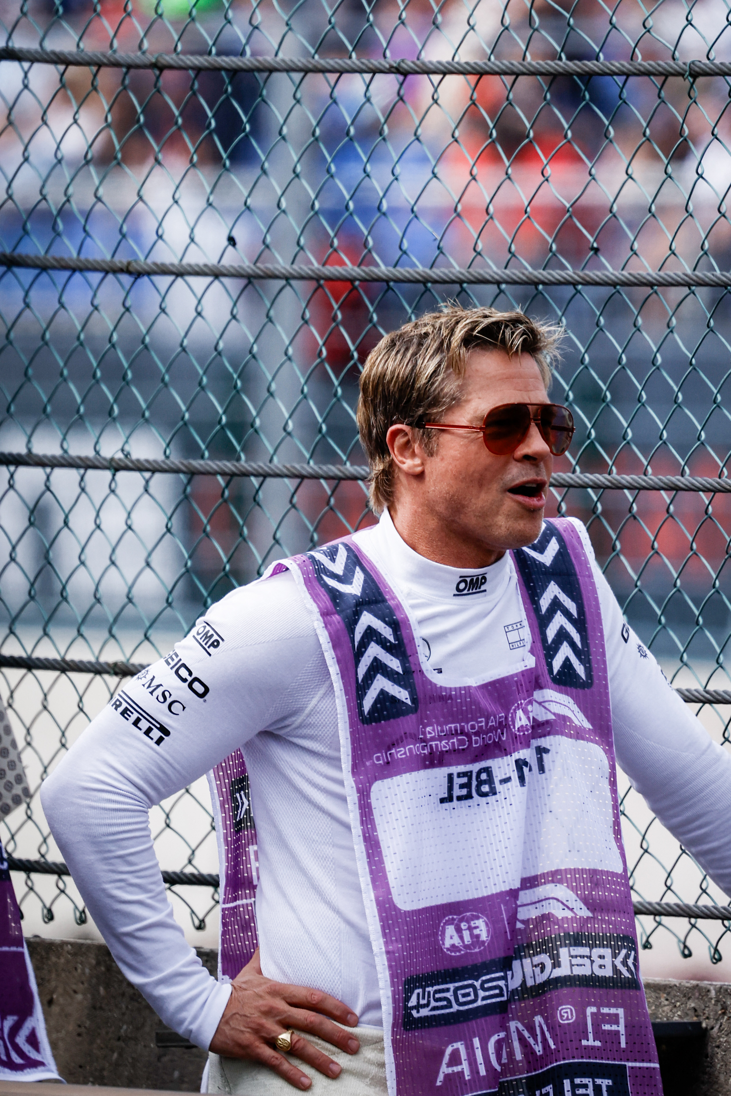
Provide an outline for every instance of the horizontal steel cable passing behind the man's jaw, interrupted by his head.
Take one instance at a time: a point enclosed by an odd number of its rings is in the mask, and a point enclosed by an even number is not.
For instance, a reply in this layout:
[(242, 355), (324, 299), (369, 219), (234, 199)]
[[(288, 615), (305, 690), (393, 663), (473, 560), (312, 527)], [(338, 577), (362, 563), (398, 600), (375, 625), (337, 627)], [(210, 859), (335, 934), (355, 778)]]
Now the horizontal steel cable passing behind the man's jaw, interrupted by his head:
[[(121, 472), (181, 472), (186, 476), (243, 476), (251, 479), (366, 480), (366, 465), (275, 465), (245, 460), (186, 460), (155, 457), (81, 456), (71, 453), (0, 453), (0, 467), (81, 468)], [(605, 472), (555, 472), (550, 487), (610, 491), (731, 492), (731, 477), (614, 476)]]

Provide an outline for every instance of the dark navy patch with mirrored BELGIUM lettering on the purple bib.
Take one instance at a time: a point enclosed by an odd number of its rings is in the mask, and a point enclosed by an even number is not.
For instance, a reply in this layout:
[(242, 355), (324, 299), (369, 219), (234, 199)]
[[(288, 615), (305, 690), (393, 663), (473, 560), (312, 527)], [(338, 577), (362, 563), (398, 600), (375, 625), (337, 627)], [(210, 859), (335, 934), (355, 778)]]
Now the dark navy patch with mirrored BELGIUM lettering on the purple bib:
[(509, 973), (511, 1000), (567, 985), (639, 990), (637, 944), (618, 933), (558, 933), (518, 945)]

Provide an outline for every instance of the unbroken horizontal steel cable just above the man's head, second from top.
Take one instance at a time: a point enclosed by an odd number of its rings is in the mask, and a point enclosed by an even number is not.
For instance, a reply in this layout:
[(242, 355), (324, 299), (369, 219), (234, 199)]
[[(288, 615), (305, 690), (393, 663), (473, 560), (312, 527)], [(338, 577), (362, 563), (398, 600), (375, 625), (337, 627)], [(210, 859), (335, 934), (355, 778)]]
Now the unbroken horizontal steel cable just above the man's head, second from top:
[(488, 266), (305, 266), (284, 263), (162, 263), (147, 259), (87, 259), (1, 251), (0, 266), (130, 277), (233, 277), (276, 282), (387, 282), (407, 285), (568, 285), (626, 288), (727, 288), (731, 271), (544, 271)]

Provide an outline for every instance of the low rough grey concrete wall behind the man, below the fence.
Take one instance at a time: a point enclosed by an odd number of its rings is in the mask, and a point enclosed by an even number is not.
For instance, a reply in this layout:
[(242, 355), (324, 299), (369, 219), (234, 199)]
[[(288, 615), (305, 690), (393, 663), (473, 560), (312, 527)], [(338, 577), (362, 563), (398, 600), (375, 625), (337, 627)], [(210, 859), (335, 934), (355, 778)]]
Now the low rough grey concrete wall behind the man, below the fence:
[[(164, 1028), (103, 944), (28, 939), (48, 1037), (70, 1084), (197, 1092), (202, 1050), (159, 1049)], [(197, 950), (216, 972), (217, 952)], [(706, 1046), (687, 1096), (731, 1096), (731, 985), (649, 979), (653, 1020), (701, 1020)]]

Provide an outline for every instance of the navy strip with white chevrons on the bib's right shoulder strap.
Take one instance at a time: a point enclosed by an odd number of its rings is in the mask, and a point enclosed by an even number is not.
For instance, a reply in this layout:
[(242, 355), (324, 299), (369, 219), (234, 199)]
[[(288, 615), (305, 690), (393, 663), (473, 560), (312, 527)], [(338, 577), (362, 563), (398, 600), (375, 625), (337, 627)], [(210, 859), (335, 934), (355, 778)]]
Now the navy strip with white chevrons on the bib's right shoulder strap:
[(540, 629), (548, 675), (557, 685), (591, 688), (592, 655), (579, 575), (552, 522), (515, 553)]

